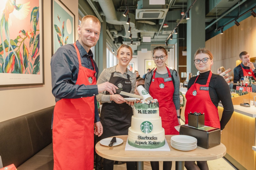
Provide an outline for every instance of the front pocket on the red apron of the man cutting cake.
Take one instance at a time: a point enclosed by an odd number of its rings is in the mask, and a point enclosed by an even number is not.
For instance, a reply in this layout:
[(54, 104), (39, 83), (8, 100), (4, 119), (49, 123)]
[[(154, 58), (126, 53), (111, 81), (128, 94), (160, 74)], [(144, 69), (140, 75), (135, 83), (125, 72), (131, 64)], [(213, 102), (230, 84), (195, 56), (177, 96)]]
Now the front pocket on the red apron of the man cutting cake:
[(64, 115), (63, 137), (65, 139), (81, 138), (84, 135), (84, 115)]

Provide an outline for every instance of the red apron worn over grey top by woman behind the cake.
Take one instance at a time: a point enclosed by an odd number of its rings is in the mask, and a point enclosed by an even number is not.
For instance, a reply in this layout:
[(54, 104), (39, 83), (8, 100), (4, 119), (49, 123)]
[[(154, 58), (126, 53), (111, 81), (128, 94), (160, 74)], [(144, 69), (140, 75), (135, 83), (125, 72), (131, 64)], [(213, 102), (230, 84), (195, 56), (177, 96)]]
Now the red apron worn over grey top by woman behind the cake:
[(179, 132), (174, 128), (178, 126), (178, 118), (176, 108), (173, 102), (174, 86), (171, 81), (171, 73), (168, 67), (169, 77), (163, 79), (162, 77), (155, 77), (156, 69), (154, 71), (152, 82), (149, 86), (149, 94), (153, 99), (159, 102), (159, 116), (162, 119), (162, 127), (164, 128), (165, 135), (178, 135)]

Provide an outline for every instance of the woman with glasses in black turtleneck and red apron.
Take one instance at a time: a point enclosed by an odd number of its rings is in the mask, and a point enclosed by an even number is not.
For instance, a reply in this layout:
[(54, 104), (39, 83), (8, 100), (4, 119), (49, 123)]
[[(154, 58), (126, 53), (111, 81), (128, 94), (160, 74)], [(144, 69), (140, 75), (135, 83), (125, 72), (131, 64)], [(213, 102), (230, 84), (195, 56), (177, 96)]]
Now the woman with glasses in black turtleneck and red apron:
[[(198, 49), (194, 55), (194, 62), (200, 74), (188, 82), (185, 123), (188, 123), (188, 113), (201, 112), (204, 113), (205, 126), (220, 128), (222, 131), (234, 112), (229, 86), (222, 76), (213, 74), (210, 70), (213, 55), (209, 50)], [(221, 121), (217, 109), (220, 101), (223, 105)], [(185, 161), (185, 167), (187, 170), (209, 169), (207, 161), (197, 161), (197, 165), (195, 161)]]

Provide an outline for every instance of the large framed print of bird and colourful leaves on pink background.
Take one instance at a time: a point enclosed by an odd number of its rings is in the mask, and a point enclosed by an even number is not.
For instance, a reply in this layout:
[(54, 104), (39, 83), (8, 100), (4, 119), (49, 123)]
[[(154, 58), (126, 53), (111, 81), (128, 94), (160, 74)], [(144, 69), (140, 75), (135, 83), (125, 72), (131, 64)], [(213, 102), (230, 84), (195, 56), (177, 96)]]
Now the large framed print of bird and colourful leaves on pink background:
[(43, 0), (19, 3), (0, 21), (0, 87), (44, 84)]

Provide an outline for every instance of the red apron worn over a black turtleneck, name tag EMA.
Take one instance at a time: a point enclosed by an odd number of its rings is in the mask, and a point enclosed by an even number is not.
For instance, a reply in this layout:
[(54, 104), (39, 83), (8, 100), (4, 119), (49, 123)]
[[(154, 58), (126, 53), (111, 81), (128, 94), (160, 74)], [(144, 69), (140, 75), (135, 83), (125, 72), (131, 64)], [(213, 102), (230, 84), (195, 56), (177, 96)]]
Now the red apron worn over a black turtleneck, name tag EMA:
[(218, 109), (213, 104), (209, 95), (209, 83), (211, 77), (212, 71), (210, 71), (207, 83), (205, 85), (198, 84), (195, 81), (195, 83), (188, 89), (186, 93), (187, 103), (185, 108), (185, 124), (188, 123), (188, 113), (201, 112), (204, 113), (204, 125), (220, 128)]

